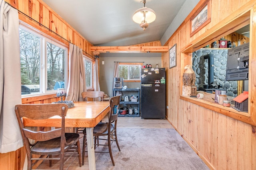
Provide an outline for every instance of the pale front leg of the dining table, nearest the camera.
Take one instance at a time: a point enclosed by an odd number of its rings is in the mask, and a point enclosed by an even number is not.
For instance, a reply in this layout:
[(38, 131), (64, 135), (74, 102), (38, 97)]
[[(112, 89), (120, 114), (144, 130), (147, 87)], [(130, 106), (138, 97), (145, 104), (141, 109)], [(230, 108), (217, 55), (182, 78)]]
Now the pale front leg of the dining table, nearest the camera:
[(96, 170), (93, 127), (86, 127), (89, 170)]

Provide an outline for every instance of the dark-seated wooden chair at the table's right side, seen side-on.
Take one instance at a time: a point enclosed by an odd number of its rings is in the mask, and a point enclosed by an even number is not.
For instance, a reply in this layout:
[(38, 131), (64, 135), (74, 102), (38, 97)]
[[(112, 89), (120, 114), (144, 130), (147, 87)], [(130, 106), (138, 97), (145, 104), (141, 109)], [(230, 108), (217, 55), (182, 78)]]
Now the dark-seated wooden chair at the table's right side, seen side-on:
[[(120, 147), (118, 145), (118, 140), (116, 136), (116, 125), (117, 125), (117, 118), (118, 118), (118, 107), (120, 103), (120, 95), (119, 96), (114, 96), (110, 98), (109, 100), (110, 103), (110, 111), (108, 113), (108, 122), (100, 122), (96, 127), (93, 129), (93, 135), (95, 137), (94, 139), (94, 145), (95, 146), (108, 146), (108, 151), (95, 151), (95, 152), (100, 152), (100, 153), (108, 153), (110, 154), (110, 158), (112, 160), (113, 166), (115, 166), (114, 159), (112, 156), (112, 150), (111, 150), (111, 145), (115, 141), (116, 145), (118, 147), (118, 150), (120, 150)], [(115, 113), (116, 112), (116, 113)], [(86, 129), (83, 131), (84, 134), (84, 141), (83, 141), (83, 156), (82, 156), (82, 164), (84, 164), (84, 154), (85, 154), (85, 147), (86, 147)], [(102, 137), (106, 136), (106, 138)], [(99, 142), (96, 143), (98, 140), (105, 140), (108, 141), (107, 144), (100, 144)]]

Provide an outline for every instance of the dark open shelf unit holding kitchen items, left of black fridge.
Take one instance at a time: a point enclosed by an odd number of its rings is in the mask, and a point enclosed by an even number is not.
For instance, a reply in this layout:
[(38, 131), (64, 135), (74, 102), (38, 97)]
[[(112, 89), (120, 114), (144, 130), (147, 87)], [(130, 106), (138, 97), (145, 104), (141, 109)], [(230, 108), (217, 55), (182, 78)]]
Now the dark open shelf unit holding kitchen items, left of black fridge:
[[(140, 117), (140, 88), (126, 88), (126, 90), (122, 90), (122, 88), (114, 88), (112, 96), (117, 96), (119, 94), (122, 96), (120, 98), (118, 116)], [(124, 111), (120, 109), (124, 109)]]

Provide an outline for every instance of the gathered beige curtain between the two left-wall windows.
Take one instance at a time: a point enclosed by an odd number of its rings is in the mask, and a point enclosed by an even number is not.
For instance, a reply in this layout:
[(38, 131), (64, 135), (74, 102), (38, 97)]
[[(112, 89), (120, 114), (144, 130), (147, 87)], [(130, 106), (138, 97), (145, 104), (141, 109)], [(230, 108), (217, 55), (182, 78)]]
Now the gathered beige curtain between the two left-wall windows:
[(83, 52), (82, 49), (71, 43), (69, 44), (69, 49), (67, 100), (73, 102), (83, 101), (81, 93), (86, 91)]

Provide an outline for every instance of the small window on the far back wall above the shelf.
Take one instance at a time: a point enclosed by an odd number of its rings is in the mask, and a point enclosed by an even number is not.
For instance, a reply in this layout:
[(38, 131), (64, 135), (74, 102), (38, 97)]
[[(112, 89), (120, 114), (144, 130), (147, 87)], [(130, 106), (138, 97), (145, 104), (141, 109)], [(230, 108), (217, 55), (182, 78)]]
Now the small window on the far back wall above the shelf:
[(143, 63), (119, 63), (118, 77), (124, 80), (140, 81), (141, 66)]

